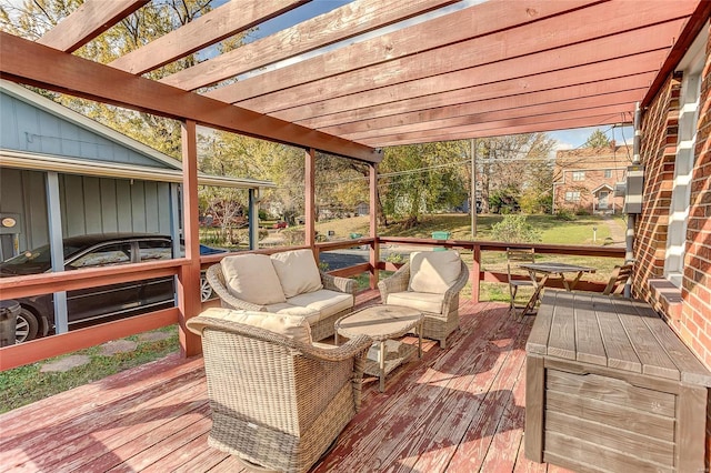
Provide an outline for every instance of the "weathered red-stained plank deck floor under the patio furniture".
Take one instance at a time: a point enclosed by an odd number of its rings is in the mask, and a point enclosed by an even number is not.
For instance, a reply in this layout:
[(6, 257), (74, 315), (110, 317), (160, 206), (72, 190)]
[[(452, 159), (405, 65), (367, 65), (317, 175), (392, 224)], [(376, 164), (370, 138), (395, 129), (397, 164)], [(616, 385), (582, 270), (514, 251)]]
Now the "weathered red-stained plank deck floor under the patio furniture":
[[(532, 319), (501, 303), (463, 302), (460, 314), (449, 348), (425, 343), (384, 393), (365, 379), (362, 410), (313, 472), (564, 471), (523, 456)], [(0, 470), (243, 471), (207, 445), (210, 425), (202, 359), (171, 355), (0, 416)]]

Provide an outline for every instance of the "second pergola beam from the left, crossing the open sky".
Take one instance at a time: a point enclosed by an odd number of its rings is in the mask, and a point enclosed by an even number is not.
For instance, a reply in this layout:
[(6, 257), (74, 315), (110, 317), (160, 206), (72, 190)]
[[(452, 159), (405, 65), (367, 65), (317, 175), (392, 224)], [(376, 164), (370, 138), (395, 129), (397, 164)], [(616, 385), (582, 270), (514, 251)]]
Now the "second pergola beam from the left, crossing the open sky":
[(233, 0), (122, 56), (109, 66), (132, 74), (142, 74), (309, 1), (311, 0)]

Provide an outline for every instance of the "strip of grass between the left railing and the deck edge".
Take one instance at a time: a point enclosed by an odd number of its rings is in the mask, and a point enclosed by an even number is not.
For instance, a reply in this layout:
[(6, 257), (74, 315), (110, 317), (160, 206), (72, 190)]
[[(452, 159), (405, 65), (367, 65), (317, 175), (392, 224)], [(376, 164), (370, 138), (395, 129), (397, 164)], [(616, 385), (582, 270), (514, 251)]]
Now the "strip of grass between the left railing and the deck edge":
[[(101, 346), (80, 350), (38, 363), (0, 372), (0, 413), (18, 409), (53, 394), (101, 380), (133, 366), (159, 360), (179, 350), (178, 326), (158, 329), (167, 335), (162, 340), (144, 340), (140, 334), (123, 340), (138, 343), (136, 350), (112, 355), (101, 354)], [(149, 332), (150, 333), (150, 332)], [(90, 361), (66, 372), (42, 372), (42, 366), (70, 355), (86, 355)]]

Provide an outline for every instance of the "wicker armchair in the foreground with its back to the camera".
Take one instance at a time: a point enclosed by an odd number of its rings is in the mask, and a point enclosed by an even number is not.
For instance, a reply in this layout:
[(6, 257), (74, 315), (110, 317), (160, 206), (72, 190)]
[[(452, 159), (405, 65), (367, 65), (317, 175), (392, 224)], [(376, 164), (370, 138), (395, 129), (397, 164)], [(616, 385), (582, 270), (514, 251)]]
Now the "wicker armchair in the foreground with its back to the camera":
[(208, 444), (250, 470), (308, 471), (360, 407), (369, 336), (312, 343), (302, 316), (218, 308), (188, 329), (202, 336)]

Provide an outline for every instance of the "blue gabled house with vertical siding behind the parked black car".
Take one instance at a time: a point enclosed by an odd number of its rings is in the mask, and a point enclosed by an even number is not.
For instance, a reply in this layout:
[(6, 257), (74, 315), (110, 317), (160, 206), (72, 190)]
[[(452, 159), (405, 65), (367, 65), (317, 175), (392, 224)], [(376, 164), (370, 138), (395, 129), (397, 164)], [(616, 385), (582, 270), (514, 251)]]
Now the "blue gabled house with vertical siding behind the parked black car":
[[(0, 123), (1, 260), (52, 233), (180, 234), (180, 161), (7, 81)], [(273, 185), (204, 174), (199, 182)]]

